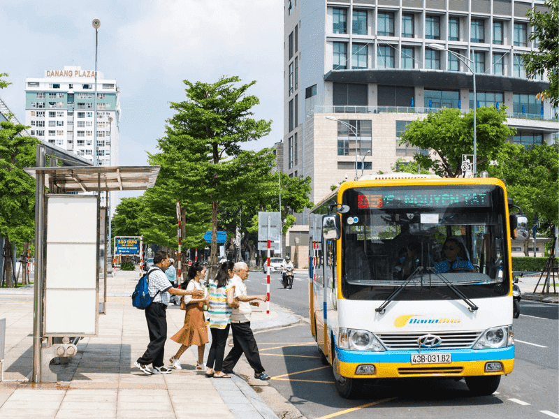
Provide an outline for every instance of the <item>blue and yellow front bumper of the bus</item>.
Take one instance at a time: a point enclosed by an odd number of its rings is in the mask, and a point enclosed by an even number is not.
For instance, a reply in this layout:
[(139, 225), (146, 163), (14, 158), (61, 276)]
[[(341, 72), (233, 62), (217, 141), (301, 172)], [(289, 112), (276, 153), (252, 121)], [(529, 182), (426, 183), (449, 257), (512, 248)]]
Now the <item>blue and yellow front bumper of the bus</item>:
[[(361, 352), (336, 348), (340, 374), (348, 378), (404, 378), (404, 377), (456, 377), (507, 375), (514, 367), (514, 346), (474, 351), (462, 349), (444, 351), (452, 354), (446, 364), (412, 364), (412, 354), (417, 351)], [(442, 351), (441, 351), (442, 352)], [(422, 352), (422, 353), (425, 353)], [(500, 362), (502, 368), (486, 372), (488, 362)], [(374, 374), (359, 374), (361, 365), (374, 365)]]

